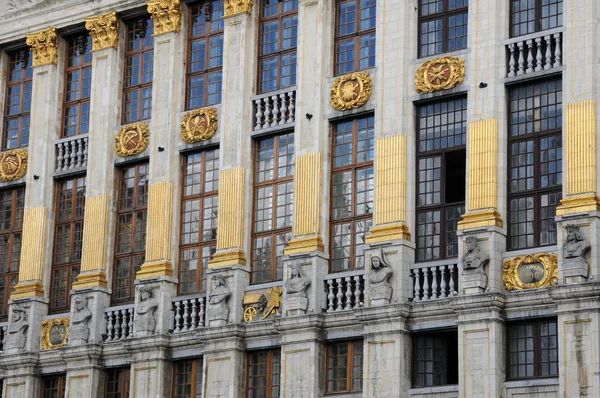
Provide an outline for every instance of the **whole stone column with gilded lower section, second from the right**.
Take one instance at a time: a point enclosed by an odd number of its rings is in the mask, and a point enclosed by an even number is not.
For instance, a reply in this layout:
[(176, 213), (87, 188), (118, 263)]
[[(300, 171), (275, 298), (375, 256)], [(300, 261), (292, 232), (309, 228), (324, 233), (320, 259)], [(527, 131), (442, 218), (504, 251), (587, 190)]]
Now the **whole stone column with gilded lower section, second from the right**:
[[(506, 88), (498, 77), (506, 76), (503, 41), (508, 38), (508, 23), (509, 2), (469, 3), (466, 212), (458, 223), (458, 291), (462, 294), (504, 289), (508, 116)], [(471, 253), (466, 248), (467, 236), (477, 239), (477, 250), (482, 257), (488, 256), (489, 265), (463, 271), (462, 258)]]

